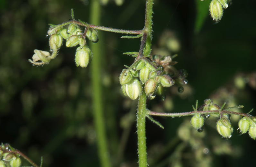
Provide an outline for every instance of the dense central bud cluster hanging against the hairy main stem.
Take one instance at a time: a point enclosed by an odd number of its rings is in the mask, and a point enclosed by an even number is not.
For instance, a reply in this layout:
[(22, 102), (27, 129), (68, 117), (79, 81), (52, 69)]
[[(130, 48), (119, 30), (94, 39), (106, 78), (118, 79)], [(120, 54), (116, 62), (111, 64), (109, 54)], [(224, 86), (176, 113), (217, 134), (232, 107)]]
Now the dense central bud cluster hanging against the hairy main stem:
[[(164, 59), (166, 57), (163, 57)], [(171, 60), (169, 56), (167, 56), (167, 59)], [(168, 62), (167, 65), (171, 66)], [(184, 75), (185, 71), (175, 71), (175, 75), (172, 73), (171, 77), (158, 61), (142, 58), (135, 61), (128, 69), (123, 69), (120, 75), (120, 84), (122, 85), (123, 93), (132, 100), (138, 98), (142, 92), (142, 86), (150, 100), (154, 99), (156, 94), (160, 95), (164, 100), (164, 87), (170, 87), (175, 83), (178, 85), (187, 84), (185, 79), (187, 73)]]

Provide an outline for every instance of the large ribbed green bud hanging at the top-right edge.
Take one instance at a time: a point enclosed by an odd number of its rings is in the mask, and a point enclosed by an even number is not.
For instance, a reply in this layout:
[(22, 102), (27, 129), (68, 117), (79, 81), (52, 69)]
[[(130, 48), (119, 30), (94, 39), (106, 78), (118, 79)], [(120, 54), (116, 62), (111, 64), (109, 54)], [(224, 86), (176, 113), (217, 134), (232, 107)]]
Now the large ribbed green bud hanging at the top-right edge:
[(218, 22), (223, 15), (222, 5), (218, 0), (212, 0), (210, 3), (210, 14), (213, 20)]

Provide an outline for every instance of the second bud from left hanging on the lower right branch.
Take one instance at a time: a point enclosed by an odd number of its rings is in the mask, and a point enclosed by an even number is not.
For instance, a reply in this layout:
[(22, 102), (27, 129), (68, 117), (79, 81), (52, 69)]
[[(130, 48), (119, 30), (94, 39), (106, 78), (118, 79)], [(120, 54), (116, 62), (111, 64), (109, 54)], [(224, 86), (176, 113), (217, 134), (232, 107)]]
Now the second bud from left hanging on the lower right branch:
[(230, 120), (221, 118), (217, 121), (218, 133), (226, 139), (229, 139), (233, 133), (233, 127)]

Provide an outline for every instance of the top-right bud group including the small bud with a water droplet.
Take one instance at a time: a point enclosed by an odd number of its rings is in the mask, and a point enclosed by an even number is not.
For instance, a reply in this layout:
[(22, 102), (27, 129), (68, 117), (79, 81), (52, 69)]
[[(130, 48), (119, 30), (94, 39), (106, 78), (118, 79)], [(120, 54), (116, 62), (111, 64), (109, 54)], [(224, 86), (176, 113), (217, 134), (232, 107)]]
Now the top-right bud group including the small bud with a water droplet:
[(215, 22), (220, 21), (223, 15), (223, 8), (228, 7), (227, 0), (212, 0), (210, 3), (210, 14)]

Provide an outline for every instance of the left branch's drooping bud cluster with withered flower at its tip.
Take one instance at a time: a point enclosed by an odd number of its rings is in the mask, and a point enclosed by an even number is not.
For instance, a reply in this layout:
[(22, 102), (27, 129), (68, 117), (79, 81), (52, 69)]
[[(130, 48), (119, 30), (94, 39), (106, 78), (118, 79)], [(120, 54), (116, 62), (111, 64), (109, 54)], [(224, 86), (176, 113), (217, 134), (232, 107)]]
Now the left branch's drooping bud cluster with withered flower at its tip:
[(51, 59), (55, 58), (64, 39), (66, 40), (66, 47), (76, 47), (79, 45), (75, 54), (76, 65), (87, 67), (92, 59), (92, 52), (86, 44), (86, 37), (94, 43), (98, 41), (97, 30), (85, 27), (85, 31), (82, 32), (80, 26), (72, 22), (69, 25), (51, 24), (46, 36), (50, 36), (49, 45), (51, 53), (35, 49), (32, 60), (29, 60), (34, 65), (48, 64)]

